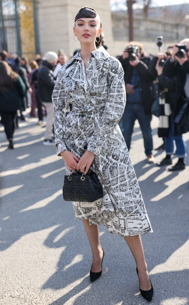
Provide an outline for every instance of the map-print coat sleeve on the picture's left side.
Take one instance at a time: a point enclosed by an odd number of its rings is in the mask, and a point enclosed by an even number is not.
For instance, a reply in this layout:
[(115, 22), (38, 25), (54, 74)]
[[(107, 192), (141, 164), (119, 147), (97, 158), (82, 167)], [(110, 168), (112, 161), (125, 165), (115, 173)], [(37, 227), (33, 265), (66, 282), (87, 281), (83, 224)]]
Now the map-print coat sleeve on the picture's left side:
[(60, 156), (60, 152), (68, 150), (64, 141), (63, 122), (66, 112), (69, 111), (69, 103), (66, 103), (66, 94), (64, 91), (61, 72), (58, 74), (56, 79), (52, 100), (54, 107), (55, 145), (57, 155)]

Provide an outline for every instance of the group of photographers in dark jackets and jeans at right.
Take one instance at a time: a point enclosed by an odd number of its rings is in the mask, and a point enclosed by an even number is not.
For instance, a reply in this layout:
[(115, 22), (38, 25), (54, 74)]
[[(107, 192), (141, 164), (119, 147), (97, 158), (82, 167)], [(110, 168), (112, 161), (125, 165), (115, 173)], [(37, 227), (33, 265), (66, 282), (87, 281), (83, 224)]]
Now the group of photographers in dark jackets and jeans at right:
[(141, 43), (130, 41), (117, 58), (124, 70), (127, 97), (119, 124), (128, 149), (138, 119), (147, 163), (155, 163), (150, 125), (155, 104), (155, 115), (159, 117), (158, 136), (163, 138), (166, 151), (158, 166), (172, 164), (175, 142), (178, 161), (169, 170), (185, 169), (186, 144), (182, 134), (189, 131), (189, 38), (155, 56), (145, 55)]

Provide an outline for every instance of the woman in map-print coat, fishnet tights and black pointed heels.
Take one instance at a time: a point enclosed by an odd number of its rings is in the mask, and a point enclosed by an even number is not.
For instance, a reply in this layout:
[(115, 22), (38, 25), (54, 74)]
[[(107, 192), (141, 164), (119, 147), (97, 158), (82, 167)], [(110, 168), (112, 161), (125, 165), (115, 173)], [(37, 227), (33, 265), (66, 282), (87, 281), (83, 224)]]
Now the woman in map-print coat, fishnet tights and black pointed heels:
[(125, 238), (136, 260), (141, 294), (151, 301), (153, 287), (140, 234), (152, 229), (118, 127), (125, 107), (123, 69), (117, 59), (99, 47), (101, 23), (94, 9), (84, 7), (77, 13), (74, 39), (79, 40), (81, 50), (62, 67), (53, 91), (54, 131), (56, 151), (68, 173), (85, 170), (86, 174), (90, 168), (103, 187), (102, 199), (73, 202), (93, 252), (90, 281), (102, 273), (104, 251), (98, 224), (104, 224), (110, 233)]

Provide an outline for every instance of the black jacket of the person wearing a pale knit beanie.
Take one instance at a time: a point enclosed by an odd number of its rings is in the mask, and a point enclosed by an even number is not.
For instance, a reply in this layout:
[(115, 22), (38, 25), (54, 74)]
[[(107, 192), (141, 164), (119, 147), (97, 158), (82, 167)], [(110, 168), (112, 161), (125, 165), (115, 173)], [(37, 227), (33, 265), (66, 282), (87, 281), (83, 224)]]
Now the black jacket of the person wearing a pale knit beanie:
[(52, 102), (52, 94), (56, 82), (52, 69), (53, 66), (44, 60), (38, 71), (38, 91), (42, 102)]

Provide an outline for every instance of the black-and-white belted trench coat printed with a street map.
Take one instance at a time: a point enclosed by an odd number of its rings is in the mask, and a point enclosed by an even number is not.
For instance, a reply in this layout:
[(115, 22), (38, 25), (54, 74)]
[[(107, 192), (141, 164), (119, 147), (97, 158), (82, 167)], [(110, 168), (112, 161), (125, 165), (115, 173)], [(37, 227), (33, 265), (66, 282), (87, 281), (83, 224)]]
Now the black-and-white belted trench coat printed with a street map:
[(128, 236), (152, 228), (118, 126), (126, 102), (123, 74), (119, 61), (103, 47), (91, 52), (86, 69), (79, 51), (58, 74), (53, 106), (57, 154), (67, 150), (81, 158), (86, 150), (93, 152), (91, 169), (103, 187), (102, 199), (72, 203), (76, 218)]

